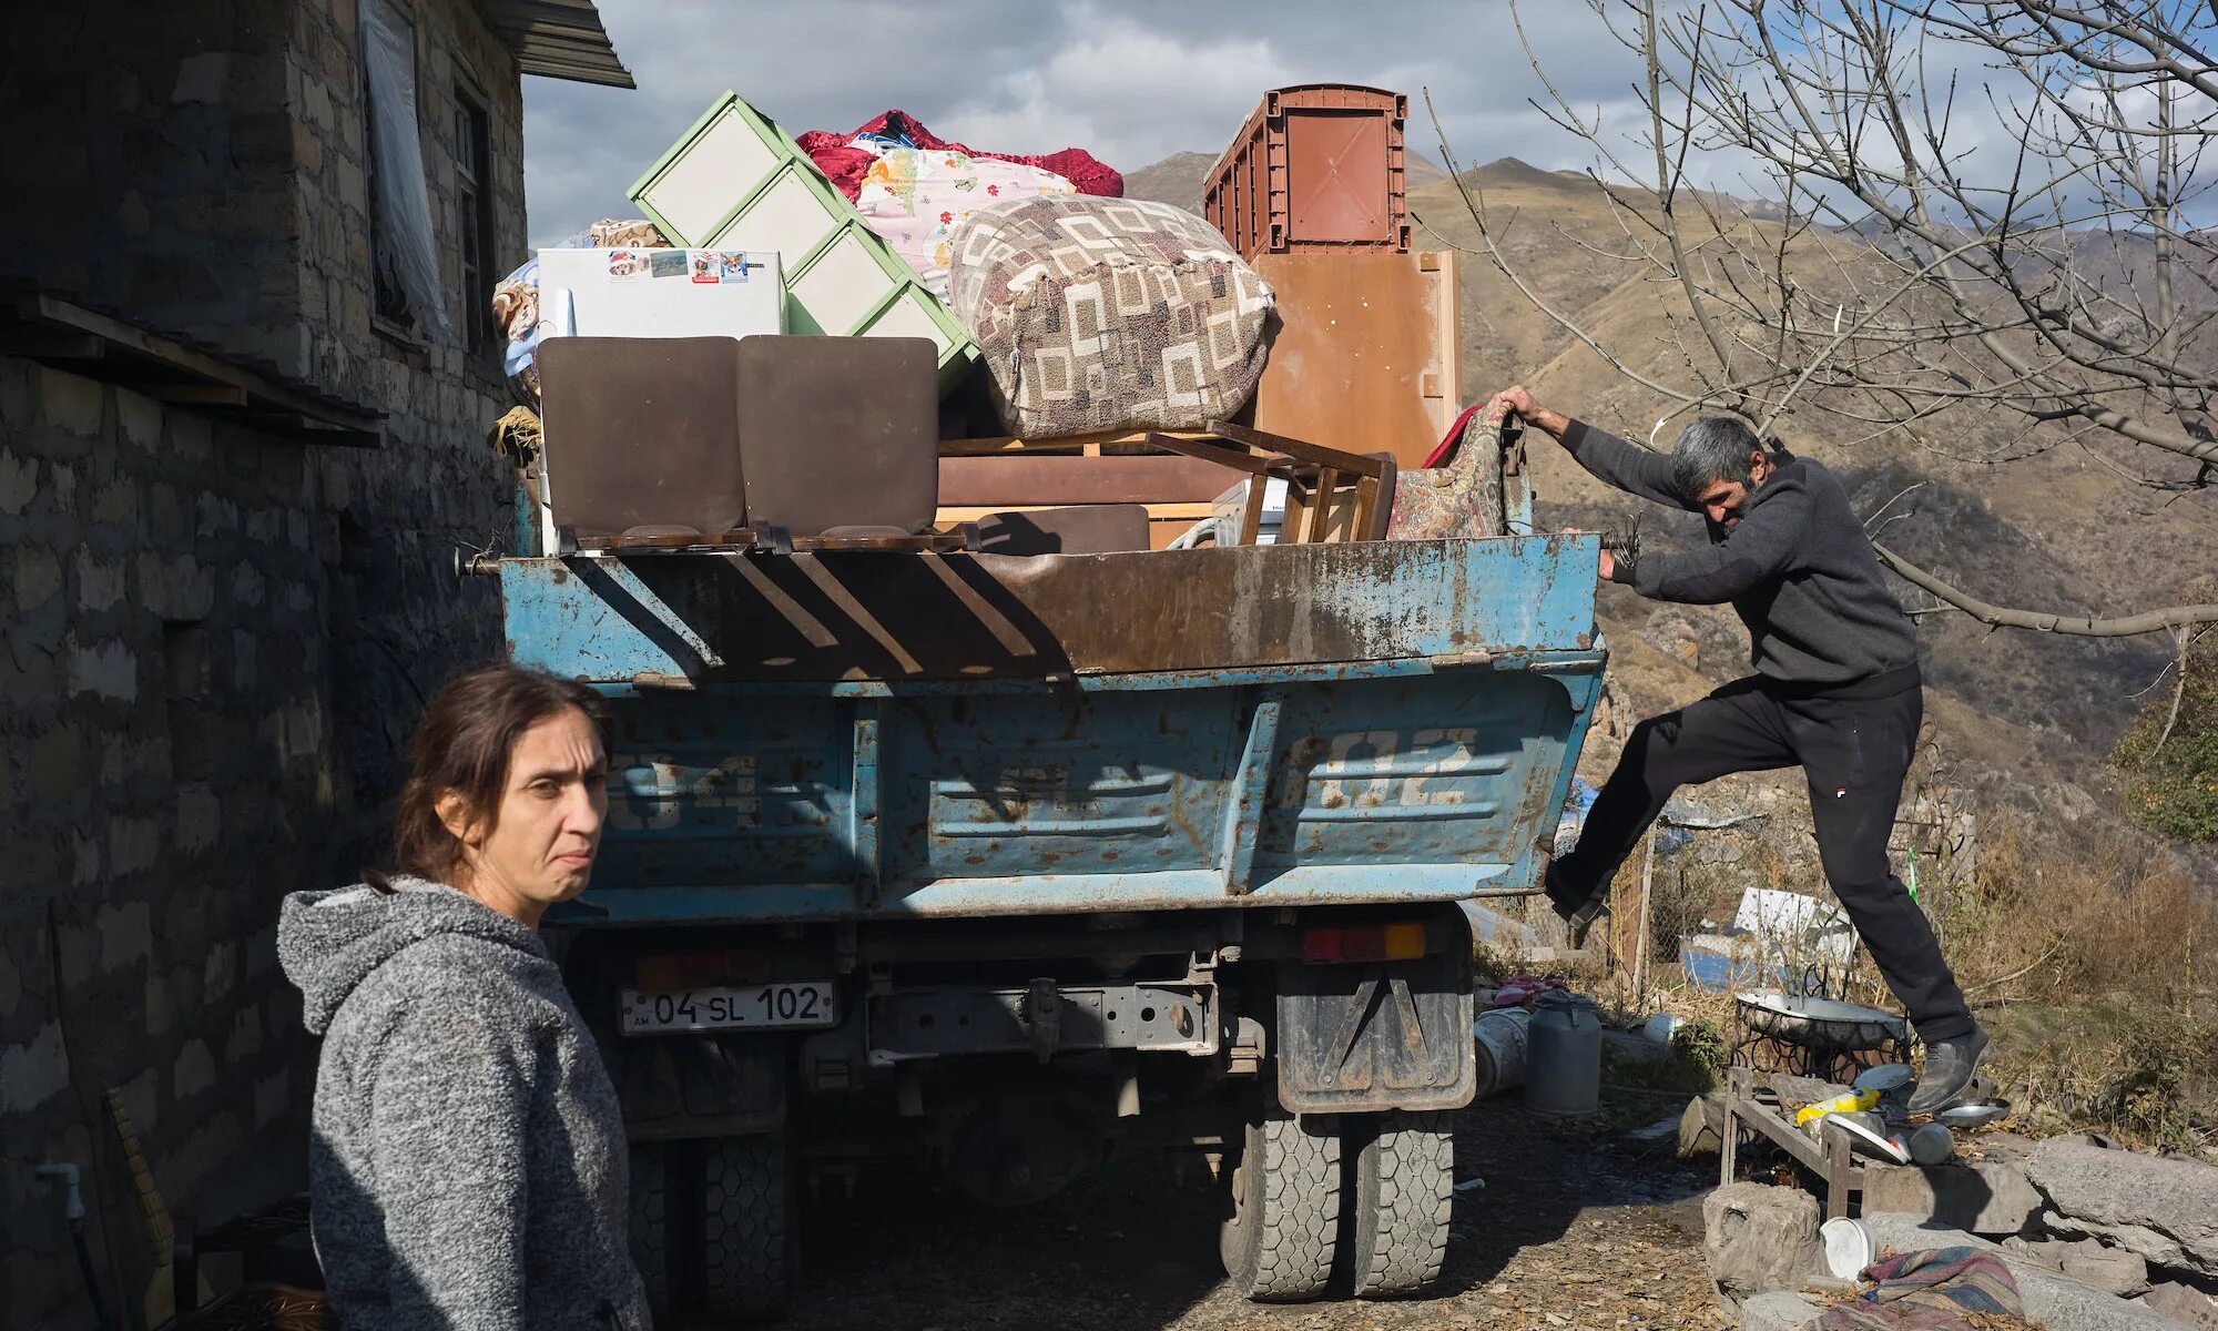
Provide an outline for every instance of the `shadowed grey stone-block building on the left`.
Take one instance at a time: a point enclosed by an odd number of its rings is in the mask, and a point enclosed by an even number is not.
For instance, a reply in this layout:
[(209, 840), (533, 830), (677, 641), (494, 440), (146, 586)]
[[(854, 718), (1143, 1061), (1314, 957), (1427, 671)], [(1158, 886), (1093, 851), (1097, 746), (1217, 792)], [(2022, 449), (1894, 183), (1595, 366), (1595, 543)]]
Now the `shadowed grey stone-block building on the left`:
[(0, 67), (0, 1324), (122, 1324), (171, 1216), (304, 1187), (282, 894), (375, 863), (419, 699), (497, 650), (490, 282), (521, 78), (590, 0), (71, 0)]

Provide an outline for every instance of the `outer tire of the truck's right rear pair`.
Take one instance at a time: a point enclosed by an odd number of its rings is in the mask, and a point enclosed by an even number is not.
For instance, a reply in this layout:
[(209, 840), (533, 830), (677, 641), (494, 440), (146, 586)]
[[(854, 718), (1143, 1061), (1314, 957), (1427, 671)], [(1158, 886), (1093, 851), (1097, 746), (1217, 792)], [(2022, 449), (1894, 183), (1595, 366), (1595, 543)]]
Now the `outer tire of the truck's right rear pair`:
[(1404, 1298), (1439, 1280), (1448, 1256), (1455, 1114), (1395, 1109), (1371, 1125), (1355, 1147), (1349, 1269), (1357, 1298)]

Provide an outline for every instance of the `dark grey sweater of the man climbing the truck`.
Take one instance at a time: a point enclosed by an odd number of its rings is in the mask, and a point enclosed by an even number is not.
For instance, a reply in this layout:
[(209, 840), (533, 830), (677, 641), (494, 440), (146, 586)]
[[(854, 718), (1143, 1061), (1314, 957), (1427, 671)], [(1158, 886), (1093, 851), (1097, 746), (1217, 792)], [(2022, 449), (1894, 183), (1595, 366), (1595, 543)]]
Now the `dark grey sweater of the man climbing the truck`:
[[(1679, 492), (1661, 453), (1584, 421), (1570, 421), (1564, 448), (1628, 495), (1701, 512)], [(1748, 492), (1741, 521), (1732, 528), (1708, 521), (1708, 550), (1644, 550), (1619, 559), (1610, 581), (1657, 601), (1730, 601), (1748, 626), (1750, 659), (1763, 679), (1830, 694), (1916, 685), (1916, 630), (1830, 470), (1779, 453), (1772, 473)]]

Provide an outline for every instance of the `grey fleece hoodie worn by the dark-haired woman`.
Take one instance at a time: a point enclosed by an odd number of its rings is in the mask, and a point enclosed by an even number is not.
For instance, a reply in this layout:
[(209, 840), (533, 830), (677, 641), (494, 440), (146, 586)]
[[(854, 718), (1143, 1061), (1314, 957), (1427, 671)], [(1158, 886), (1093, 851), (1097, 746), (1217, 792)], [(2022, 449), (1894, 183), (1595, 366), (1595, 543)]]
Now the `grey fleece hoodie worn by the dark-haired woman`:
[(308, 1187), (346, 1331), (643, 1331), (617, 1091), (539, 936), (395, 878), (286, 896), (324, 1036)]

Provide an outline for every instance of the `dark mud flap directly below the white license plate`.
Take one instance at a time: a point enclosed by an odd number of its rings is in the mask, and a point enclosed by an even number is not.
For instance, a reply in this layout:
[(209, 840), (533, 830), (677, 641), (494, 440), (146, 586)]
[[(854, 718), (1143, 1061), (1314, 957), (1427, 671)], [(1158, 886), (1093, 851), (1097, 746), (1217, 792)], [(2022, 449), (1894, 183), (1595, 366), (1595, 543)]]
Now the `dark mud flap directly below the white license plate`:
[(663, 1036), (619, 1045), (617, 1100), (634, 1142), (774, 1131), (785, 1125), (785, 1043)]

